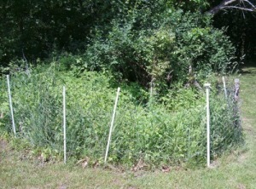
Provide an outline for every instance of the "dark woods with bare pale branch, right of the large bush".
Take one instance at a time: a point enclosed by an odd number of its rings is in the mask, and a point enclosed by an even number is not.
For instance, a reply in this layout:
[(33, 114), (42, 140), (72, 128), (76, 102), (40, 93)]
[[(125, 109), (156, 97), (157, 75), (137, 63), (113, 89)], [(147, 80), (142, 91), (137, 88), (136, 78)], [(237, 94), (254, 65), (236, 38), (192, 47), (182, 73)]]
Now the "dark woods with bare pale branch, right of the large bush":
[(208, 13), (214, 14), (214, 26), (227, 28), (227, 34), (236, 45), (236, 55), (242, 60), (256, 57), (256, 1), (222, 1), (212, 3)]

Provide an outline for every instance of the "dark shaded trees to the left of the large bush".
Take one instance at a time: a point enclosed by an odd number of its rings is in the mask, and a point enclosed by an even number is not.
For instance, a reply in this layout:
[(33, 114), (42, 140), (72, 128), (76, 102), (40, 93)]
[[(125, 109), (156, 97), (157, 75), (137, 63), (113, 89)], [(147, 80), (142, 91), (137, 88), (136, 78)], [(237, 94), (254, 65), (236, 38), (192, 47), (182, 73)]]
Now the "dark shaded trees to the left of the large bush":
[(163, 5), (149, 1), (1, 1), (0, 60), (47, 58), (55, 49), (79, 53), (100, 30), (108, 33), (109, 22), (124, 18), (137, 7), (159, 11)]

